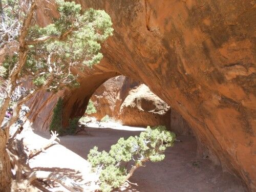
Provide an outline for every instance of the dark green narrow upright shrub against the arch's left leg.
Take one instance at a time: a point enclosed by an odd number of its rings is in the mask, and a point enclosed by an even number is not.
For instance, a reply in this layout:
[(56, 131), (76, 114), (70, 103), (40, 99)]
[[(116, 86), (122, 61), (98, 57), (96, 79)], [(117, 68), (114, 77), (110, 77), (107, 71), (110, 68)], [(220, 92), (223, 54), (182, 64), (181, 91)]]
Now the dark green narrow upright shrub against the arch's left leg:
[(62, 105), (63, 105), (63, 99), (59, 98), (54, 109), (53, 109), (53, 115), (52, 115), (52, 120), (49, 126), (49, 131), (56, 131), (59, 135), (62, 134)]

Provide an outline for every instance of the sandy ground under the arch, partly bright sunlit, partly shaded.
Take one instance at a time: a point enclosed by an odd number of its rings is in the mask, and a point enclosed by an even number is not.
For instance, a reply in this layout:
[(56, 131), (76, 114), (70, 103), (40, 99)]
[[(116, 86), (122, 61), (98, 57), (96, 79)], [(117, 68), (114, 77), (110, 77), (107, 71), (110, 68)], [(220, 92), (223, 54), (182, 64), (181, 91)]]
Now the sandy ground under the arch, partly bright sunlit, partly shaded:
[[(129, 127), (123, 127), (129, 130)], [(131, 128), (136, 130), (134, 128)], [(54, 170), (78, 183), (84, 184), (94, 175), (90, 173), (90, 164), (86, 161), (90, 149), (97, 145), (99, 150), (110, 149), (120, 138), (138, 135), (140, 131), (121, 129), (90, 129), (91, 135), (78, 134), (60, 137), (60, 144), (48, 148), (45, 153), (30, 160), (32, 167)], [(36, 134), (35, 134), (36, 133)], [(50, 138), (47, 133), (27, 132), (25, 144), (37, 148)], [(182, 142), (175, 142), (174, 147), (166, 150), (162, 162), (146, 163), (135, 172), (130, 181), (137, 183), (125, 191), (246, 191), (243, 183), (229, 173), (223, 173), (219, 166), (209, 160), (196, 159), (196, 140), (191, 136), (178, 137)], [(36, 142), (37, 146), (32, 143)], [(67, 191), (63, 187), (50, 191)], [(117, 190), (120, 191), (120, 190)]]

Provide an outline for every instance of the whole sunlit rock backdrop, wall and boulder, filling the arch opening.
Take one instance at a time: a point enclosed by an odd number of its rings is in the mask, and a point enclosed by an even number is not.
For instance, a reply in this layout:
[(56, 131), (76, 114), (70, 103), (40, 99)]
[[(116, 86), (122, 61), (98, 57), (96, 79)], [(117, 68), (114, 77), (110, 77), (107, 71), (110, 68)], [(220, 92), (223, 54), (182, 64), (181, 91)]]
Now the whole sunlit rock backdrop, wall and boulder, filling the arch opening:
[(92, 116), (97, 120), (109, 115), (123, 125), (169, 127), (170, 107), (145, 84), (131, 78), (118, 76), (109, 79), (95, 91), (91, 99), (97, 110)]

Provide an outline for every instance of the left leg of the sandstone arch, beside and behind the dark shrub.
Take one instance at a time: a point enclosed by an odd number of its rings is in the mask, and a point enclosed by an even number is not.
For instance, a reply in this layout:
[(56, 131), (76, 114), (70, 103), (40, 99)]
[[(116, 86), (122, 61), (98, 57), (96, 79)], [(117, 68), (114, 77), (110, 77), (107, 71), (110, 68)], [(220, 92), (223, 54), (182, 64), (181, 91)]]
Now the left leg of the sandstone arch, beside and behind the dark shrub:
[(83, 73), (74, 69), (74, 73), (79, 73), (80, 76), (78, 89), (65, 89), (57, 94), (42, 91), (29, 101), (28, 105), (32, 110), (29, 119), (33, 122), (35, 129), (47, 130), (49, 128), (52, 111), (59, 97), (65, 100), (62, 117), (63, 127), (68, 125), (70, 118), (83, 116), (88, 101), (95, 90), (109, 78), (119, 75), (117, 72), (106, 70), (101, 66), (94, 69), (88, 68)]

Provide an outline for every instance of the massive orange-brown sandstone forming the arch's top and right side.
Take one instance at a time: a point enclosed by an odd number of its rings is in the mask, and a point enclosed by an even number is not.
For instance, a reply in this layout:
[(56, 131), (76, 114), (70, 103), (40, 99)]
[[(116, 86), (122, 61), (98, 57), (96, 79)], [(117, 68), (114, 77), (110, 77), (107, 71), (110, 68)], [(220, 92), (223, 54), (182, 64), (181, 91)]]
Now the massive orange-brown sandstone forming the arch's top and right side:
[[(79, 89), (63, 93), (63, 118), (83, 114), (106, 79), (138, 79), (186, 119), (204, 152), (256, 190), (255, 2), (76, 2), (106, 10), (115, 32), (101, 64), (81, 74)], [(41, 103), (33, 110), (44, 114), (37, 125), (47, 127), (51, 101)]]

